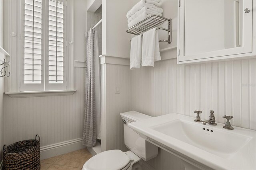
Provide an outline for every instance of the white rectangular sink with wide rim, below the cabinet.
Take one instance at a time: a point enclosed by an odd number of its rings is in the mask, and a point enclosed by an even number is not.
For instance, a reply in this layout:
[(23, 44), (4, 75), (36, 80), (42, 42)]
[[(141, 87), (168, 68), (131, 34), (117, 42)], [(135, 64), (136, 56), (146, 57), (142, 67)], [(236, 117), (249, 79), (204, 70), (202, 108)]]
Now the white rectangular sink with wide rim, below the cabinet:
[[(234, 118), (235, 119), (235, 118)], [(202, 169), (256, 169), (256, 131), (194, 122), (176, 113), (130, 123), (146, 140)]]

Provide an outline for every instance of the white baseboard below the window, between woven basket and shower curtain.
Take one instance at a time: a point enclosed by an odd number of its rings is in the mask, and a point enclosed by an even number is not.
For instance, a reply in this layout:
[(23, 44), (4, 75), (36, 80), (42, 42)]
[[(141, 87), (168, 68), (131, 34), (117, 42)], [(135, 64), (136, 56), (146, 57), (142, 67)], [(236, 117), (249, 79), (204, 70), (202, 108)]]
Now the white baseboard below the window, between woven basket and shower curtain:
[(64, 141), (61, 143), (55, 143), (52, 145), (47, 145), (40, 147), (40, 158), (41, 160), (51, 158), (60, 154), (65, 154), (79, 149), (84, 149), (85, 146), (82, 145), (82, 138), (73, 139), (70, 141)]

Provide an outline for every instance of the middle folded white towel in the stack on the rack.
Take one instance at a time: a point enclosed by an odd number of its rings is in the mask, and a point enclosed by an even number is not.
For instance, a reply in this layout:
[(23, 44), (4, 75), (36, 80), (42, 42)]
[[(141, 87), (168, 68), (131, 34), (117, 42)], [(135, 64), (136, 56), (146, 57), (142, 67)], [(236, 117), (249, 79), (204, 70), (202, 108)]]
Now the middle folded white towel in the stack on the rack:
[(135, 18), (137, 18), (138, 16), (140, 16), (140, 14), (142, 14), (143, 12), (146, 12), (146, 14), (151, 14), (151, 15), (159, 15), (159, 16), (163, 16), (163, 9), (160, 7), (156, 8), (152, 8), (150, 6), (144, 6), (143, 8), (141, 8), (141, 10), (137, 11), (133, 16), (131, 16), (128, 19), (128, 23), (130, 23), (132, 20), (134, 20)]

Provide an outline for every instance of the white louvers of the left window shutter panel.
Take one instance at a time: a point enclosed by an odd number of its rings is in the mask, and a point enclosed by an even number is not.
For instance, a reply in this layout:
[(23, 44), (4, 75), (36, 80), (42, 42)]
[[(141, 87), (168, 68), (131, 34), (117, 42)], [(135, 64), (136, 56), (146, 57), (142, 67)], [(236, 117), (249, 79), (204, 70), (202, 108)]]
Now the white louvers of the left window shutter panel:
[(24, 83), (42, 82), (42, 0), (25, 0)]

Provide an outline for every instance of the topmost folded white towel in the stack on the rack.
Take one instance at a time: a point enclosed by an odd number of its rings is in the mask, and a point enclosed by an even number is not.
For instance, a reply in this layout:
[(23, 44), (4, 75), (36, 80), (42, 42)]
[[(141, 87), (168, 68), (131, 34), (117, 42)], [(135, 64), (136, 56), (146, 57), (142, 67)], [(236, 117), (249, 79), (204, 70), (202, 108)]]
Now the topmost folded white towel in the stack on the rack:
[(137, 4), (135, 4), (130, 11), (127, 12), (126, 17), (127, 19), (133, 16), (137, 11), (139, 11), (144, 6), (161, 6), (161, 0), (141, 0)]

